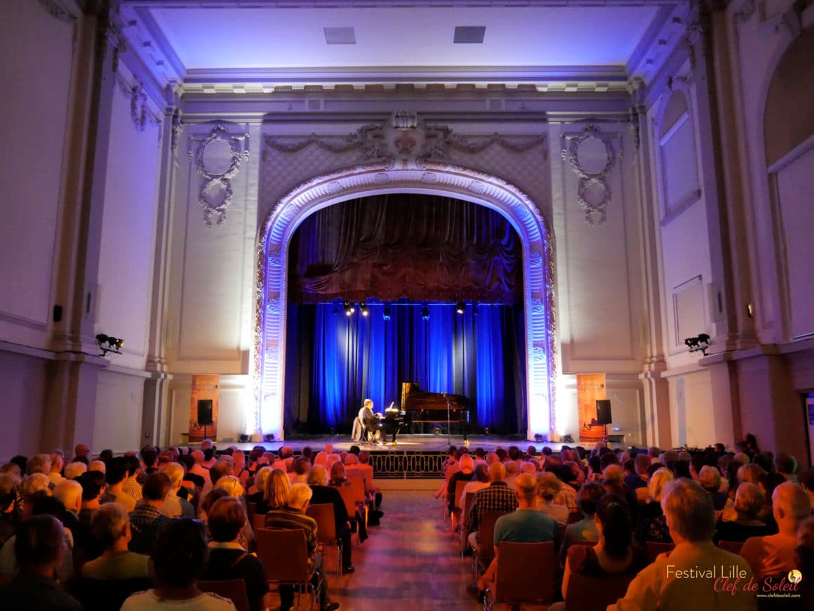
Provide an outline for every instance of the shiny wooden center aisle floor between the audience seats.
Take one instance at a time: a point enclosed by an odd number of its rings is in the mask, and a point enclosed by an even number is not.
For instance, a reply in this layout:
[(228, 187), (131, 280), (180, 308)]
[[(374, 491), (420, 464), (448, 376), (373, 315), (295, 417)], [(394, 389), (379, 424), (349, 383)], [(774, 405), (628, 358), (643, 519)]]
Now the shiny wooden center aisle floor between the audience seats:
[(474, 581), (471, 558), (461, 561), (440, 500), (428, 490), (385, 490), (381, 509), (382, 524), (353, 550), (356, 572), (337, 583), (334, 563), (328, 565), (330, 597), (340, 611), (483, 609), (466, 594)]

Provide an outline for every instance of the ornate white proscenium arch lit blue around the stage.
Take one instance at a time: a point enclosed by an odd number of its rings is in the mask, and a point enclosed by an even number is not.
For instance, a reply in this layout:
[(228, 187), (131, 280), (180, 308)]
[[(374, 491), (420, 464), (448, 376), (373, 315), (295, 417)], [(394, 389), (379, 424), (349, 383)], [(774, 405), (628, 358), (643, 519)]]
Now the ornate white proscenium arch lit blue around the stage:
[[(357, 166), (323, 174), (278, 200), (257, 236), (253, 402), (247, 433), (283, 437), (288, 245), (304, 218), (344, 200), (384, 193), (455, 197), (501, 213), (523, 248), (526, 323), (527, 437), (555, 430), (556, 343), (554, 239), (540, 211), (519, 188), (490, 174), (453, 165), (425, 169)], [(550, 438), (550, 437), (549, 437)]]

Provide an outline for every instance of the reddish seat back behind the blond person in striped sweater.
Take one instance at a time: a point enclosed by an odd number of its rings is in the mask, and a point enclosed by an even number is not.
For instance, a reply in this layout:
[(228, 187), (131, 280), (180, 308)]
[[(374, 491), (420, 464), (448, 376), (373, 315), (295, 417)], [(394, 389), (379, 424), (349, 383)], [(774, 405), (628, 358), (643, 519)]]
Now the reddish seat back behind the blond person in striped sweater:
[(265, 578), (276, 583), (304, 583), (310, 578), (308, 544), (305, 533), (261, 528), (257, 530), (257, 557), (263, 563)]

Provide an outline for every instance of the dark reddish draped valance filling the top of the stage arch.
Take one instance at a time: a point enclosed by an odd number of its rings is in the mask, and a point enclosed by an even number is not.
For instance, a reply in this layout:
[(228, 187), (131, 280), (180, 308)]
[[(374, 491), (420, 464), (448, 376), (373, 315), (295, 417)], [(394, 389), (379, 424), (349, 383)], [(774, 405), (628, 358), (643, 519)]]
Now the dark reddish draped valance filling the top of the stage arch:
[(500, 213), (409, 193), (335, 204), (289, 248), (289, 300), (523, 302), (522, 248)]

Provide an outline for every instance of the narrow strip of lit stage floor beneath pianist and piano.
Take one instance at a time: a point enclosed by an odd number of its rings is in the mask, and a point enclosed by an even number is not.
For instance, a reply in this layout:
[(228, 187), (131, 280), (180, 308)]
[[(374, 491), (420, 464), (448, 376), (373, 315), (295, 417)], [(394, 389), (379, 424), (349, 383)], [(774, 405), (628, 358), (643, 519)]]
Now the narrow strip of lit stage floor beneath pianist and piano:
[[(449, 446), (462, 446), (464, 440), (461, 435), (451, 435), (448, 438), (446, 435), (399, 435), (396, 439), (396, 446), (392, 446), (389, 442), (386, 444), (374, 445), (357, 444), (352, 441), (350, 437), (344, 435), (325, 435), (322, 437), (309, 437), (308, 439), (286, 439), (282, 442), (247, 442), (237, 443), (231, 441), (217, 441), (215, 445), (218, 450), (223, 450), (229, 446), (236, 446), (239, 450), (250, 451), (254, 446), (263, 446), (266, 451), (277, 452), (282, 446), (291, 446), (295, 452), (301, 451), (305, 446), (309, 446), (314, 452), (322, 450), (326, 444), (330, 443), (334, 446), (336, 451), (348, 451), (351, 446), (358, 445), (362, 450), (370, 452), (444, 452), (447, 451)], [(190, 443), (190, 447), (198, 447), (199, 443)], [(578, 444), (571, 443), (571, 446)], [(558, 451), (562, 447), (562, 443), (554, 442), (530, 442), (526, 439), (518, 439), (517, 437), (499, 437), (497, 435), (470, 435), (469, 436), (469, 449), (475, 451), (475, 448), (482, 447), (484, 451), (493, 451), (497, 446), (507, 449), (509, 446), (518, 446), (521, 450), (525, 451), (528, 446), (534, 446), (535, 453), (539, 454), (544, 447), (549, 447), (553, 451)]]

